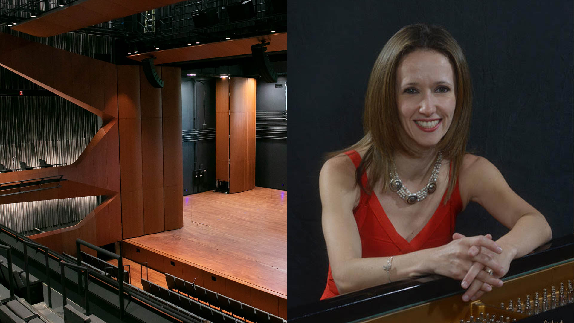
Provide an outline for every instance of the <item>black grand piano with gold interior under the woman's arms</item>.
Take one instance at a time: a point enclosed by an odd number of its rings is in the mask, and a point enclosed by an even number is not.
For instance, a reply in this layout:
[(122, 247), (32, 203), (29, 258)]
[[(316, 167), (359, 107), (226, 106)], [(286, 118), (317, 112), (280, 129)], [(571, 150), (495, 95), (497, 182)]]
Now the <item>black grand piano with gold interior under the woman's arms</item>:
[(393, 282), (289, 309), (289, 322), (574, 322), (574, 236), (513, 260), (502, 280), (468, 303), (444, 276)]

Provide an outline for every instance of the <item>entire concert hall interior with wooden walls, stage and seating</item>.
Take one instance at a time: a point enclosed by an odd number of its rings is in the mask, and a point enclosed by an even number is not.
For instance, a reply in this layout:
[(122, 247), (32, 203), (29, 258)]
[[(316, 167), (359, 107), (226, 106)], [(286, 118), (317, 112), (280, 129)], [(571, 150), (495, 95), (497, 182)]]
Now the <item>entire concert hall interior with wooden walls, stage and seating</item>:
[(0, 0), (0, 321), (286, 322), (286, 0)]

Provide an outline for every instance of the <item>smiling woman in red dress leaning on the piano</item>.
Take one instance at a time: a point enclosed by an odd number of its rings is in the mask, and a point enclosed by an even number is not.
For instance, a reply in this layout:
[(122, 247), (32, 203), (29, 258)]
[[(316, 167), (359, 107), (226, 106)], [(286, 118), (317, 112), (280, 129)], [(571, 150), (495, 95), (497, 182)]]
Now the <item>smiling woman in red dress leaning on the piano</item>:
[[(511, 260), (550, 240), (545, 217), (488, 160), (466, 153), (471, 102), (466, 59), (447, 30), (409, 25), (387, 42), (367, 87), (364, 137), (321, 169), (330, 264), (321, 299), (440, 274), (474, 300), (502, 286)], [(455, 233), (471, 201), (510, 231), (497, 241)]]

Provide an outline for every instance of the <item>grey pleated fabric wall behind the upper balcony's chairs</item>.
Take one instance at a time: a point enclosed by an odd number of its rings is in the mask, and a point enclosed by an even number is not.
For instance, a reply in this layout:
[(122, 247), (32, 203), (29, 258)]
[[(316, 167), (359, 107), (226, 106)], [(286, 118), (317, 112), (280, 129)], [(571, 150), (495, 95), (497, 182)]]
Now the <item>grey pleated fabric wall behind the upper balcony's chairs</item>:
[(61, 97), (0, 97), (0, 163), (72, 164), (98, 130), (98, 117)]

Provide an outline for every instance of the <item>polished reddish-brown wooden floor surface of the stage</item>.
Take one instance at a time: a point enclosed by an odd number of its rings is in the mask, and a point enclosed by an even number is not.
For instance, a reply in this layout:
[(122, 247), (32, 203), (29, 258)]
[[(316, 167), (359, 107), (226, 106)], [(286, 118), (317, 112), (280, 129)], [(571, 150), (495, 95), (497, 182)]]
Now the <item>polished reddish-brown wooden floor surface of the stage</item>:
[(286, 191), (207, 191), (184, 196), (183, 209), (183, 228), (126, 241), (286, 298)]

